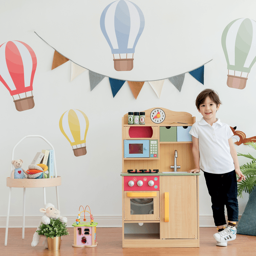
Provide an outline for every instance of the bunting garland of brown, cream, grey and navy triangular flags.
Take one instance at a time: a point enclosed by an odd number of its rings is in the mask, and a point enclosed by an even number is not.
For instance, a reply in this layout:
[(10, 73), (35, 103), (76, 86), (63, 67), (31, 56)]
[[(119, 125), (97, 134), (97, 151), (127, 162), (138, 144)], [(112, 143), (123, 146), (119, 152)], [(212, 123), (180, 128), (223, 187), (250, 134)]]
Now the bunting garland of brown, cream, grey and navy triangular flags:
[[(35, 32), (35, 34), (38, 35), (36, 32)], [(38, 37), (41, 38), (39, 35), (38, 35)], [(44, 41), (43, 38), (41, 38), (41, 39)], [(46, 41), (44, 41), (44, 42), (46, 42)], [(61, 55), (59, 52), (57, 52), (55, 50), (53, 61), (52, 61), (52, 70), (55, 69), (56, 67), (64, 64), (65, 62), (67, 62), (69, 60), (70, 59)], [(212, 59), (210, 61), (212, 61)], [(210, 61), (208, 61), (208, 62), (210, 62)], [(207, 64), (208, 62), (206, 62), (205, 64)], [(204, 65), (205, 64), (203, 64), (200, 67), (195, 68), (194, 70), (188, 71), (186, 73), (191, 74), (201, 84), (204, 84)], [(76, 78), (76, 76), (79, 76), (85, 70), (88, 70), (88, 69), (71, 61), (71, 79), (70, 79), (70, 81), (72, 81), (74, 78)], [(102, 74), (93, 72), (92, 70), (89, 70), (90, 90), (92, 91), (104, 78), (105, 78), (105, 75), (102, 75)], [(116, 93), (118, 93), (118, 91), (121, 89), (121, 87), (123, 86), (123, 84), (125, 83), (126, 80), (119, 80), (119, 79), (114, 79), (111, 77), (108, 77), (108, 78), (109, 78), (109, 82), (111, 85), (113, 97), (115, 97)], [(183, 86), (184, 79), (185, 79), (185, 73), (177, 75), (177, 76), (167, 77), (165, 79), (169, 79), (169, 81), (180, 92), (181, 88)], [(160, 98), (161, 91), (163, 88), (163, 83), (164, 83), (165, 79), (160, 79), (160, 80), (156, 80), (156, 81), (148, 81), (148, 83), (151, 85), (151, 87), (157, 94), (158, 98)], [(131, 91), (132, 91), (135, 99), (137, 99), (144, 83), (145, 83), (145, 81), (128, 81), (129, 87), (131, 88)]]

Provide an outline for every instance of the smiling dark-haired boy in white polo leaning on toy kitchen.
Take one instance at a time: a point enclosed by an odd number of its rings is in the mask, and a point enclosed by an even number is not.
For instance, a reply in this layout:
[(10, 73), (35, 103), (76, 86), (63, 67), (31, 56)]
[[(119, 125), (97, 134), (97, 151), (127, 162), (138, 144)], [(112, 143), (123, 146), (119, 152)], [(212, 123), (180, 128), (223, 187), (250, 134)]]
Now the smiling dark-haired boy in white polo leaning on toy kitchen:
[[(189, 172), (204, 172), (212, 201), (212, 212), (218, 233), (214, 234), (218, 246), (227, 246), (227, 241), (236, 239), (238, 221), (237, 181), (245, 180), (240, 171), (233, 132), (227, 124), (216, 118), (221, 101), (214, 90), (199, 93), (195, 105), (203, 118), (192, 125), (192, 153), (195, 169)], [(200, 164), (199, 164), (200, 162)], [(239, 179), (236, 181), (236, 174)], [(227, 208), (228, 226), (224, 206)]]

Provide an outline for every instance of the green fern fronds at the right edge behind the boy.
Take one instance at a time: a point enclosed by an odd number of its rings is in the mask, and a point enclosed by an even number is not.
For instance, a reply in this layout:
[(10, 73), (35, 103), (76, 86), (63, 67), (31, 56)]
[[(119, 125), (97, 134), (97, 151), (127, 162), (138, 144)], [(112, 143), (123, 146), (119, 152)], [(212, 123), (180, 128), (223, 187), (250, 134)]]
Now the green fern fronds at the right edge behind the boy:
[[(256, 150), (255, 142), (244, 143), (249, 145), (249, 147), (254, 148)], [(242, 198), (242, 192), (249, 193), (253, 191), (254, 186), (256, 185), (256, 158), (252, 155), (248, 154), (237, 154), (238, 156), (250, 158), (252, 161), (250, 163), (245, 163), (240, 166), (241, 172), (246, 177), (246, 180), (242, 180), (237, 184), (238, 195)]]

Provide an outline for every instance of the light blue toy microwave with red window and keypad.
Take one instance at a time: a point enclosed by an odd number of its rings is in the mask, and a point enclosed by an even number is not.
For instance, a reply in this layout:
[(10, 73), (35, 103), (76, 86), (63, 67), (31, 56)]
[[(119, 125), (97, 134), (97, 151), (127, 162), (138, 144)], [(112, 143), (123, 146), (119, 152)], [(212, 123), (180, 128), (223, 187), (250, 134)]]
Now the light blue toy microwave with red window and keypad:
[(124, 140), (124, 158), (157, 158), (158, 140)]

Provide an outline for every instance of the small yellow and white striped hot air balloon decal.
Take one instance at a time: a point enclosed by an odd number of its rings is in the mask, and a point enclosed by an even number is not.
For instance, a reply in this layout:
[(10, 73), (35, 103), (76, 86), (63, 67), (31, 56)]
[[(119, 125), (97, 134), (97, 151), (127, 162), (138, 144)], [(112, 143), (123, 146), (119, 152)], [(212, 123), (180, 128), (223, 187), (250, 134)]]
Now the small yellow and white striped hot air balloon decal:
[(62, 134), (69, 141), (76, 157), (87, 153), (86, 135), (89, 128), (89, 120), (84, 112), (78, 109), (70, 109), (61, 116), (59, 126)]

